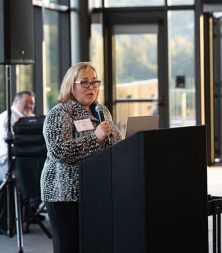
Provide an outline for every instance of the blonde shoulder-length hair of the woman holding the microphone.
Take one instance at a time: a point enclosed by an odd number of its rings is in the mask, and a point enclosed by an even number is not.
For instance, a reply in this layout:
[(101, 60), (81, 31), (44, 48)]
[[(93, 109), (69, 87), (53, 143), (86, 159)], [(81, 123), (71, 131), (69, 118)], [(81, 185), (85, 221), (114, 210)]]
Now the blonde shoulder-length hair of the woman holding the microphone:
[[(59, 102), (67, 102), (68, 100), (75, 100), (75, 98), (73, 97), (73, 93), (72, 93), (73, 84), (75, 83), (75, 81), (78, 77), (79, 71), (81, 69), (87, 69), (87, 68), (91, 68), (96, 73), (96, 69), (92, 65), (91, 62), (79, 62), (67, 70), (67, 72), (63, 78), (60, 92), (58, 95)], [(97, 73), (96, 73), (96, 76), (97, 76)]]

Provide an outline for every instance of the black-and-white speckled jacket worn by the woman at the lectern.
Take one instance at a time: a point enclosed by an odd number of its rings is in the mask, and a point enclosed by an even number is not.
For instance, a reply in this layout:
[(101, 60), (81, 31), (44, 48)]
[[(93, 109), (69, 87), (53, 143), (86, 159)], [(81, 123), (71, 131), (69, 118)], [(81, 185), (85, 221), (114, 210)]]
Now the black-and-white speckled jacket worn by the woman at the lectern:
[(103, 112), (111, 125), (110, 142), (108, 138), (98, 142), (94, 129), (76, 130), (74, 122), (77, 120), (90, 118), (94, 128), (99, 125), (99, 120), (76, 101), (59, 103), (49, 111), (43, 126), (47, 146), (47, 158), (41, 175), (43, 201), (78, 201), (78, 161), (121, 141), (120, 131), (105, 106)]

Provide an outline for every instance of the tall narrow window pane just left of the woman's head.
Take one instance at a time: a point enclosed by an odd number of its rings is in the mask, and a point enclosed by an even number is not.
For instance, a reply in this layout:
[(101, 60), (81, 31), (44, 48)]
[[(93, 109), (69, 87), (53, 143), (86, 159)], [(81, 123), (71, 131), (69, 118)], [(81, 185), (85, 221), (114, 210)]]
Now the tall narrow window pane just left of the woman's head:
[(43, 20), (43, 82), (44, 113), (46, 113), (57, 103), (59, 92), (58, 13), (45, 9)]

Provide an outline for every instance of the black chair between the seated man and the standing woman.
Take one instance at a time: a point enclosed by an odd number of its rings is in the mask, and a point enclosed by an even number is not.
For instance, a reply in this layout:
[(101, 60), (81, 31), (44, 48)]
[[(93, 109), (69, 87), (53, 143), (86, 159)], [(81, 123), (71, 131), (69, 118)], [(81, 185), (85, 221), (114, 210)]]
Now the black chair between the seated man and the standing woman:
[[(45, 210), (44, 203), (40, 200), (40, 176), (46, 159), (46, 145), (42, 134), (44, 118), (24, 117), (15, 123), (13, 156), (14, 171), (22, 195), (25, 232), (29, 232), (31, 223), (36, 223), (51, 238), (51, 233), (39, 218), (39, 213)], [(40, 208), (33, 210), (30, 200), (36, 200)]]

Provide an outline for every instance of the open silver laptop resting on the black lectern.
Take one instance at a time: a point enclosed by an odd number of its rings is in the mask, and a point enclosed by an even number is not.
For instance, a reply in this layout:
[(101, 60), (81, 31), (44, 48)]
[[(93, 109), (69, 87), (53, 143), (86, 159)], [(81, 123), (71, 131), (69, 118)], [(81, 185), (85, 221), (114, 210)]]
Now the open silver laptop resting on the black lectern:
[(126, 120), (125, 138), (139, 132), (159, 128), (159, 115), (134, 116)]

